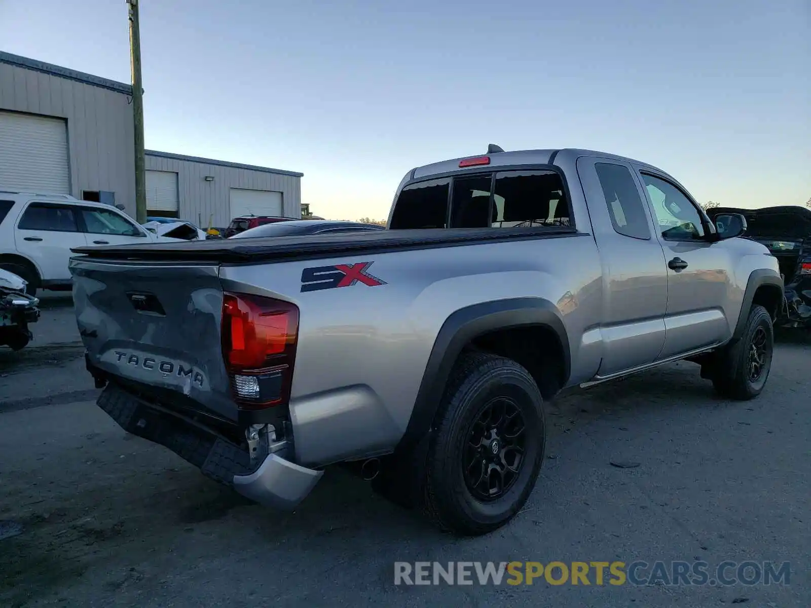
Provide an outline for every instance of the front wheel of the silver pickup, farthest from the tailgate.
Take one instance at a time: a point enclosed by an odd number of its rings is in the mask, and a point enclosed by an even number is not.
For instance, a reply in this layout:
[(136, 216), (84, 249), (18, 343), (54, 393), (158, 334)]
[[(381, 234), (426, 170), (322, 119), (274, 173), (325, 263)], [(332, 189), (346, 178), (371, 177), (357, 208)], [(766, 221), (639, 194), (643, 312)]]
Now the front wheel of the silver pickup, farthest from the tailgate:
[(760, 395), (769, 378), (775, 330), (763, 306), (752, 306), (743, 336), (717, 354), (712, 383), (720, 395), (749, 400)]

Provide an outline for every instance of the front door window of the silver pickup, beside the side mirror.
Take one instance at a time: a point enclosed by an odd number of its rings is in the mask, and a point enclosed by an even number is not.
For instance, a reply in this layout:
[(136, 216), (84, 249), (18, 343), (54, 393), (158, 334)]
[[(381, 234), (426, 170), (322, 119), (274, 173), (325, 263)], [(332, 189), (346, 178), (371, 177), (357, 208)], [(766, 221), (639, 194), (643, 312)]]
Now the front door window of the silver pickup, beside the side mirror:
[(697, 208), (672, 183), (642, 173), (650, 204), (662, 236), (667, 241), (695, 241), (704, 238), (702, 216)]

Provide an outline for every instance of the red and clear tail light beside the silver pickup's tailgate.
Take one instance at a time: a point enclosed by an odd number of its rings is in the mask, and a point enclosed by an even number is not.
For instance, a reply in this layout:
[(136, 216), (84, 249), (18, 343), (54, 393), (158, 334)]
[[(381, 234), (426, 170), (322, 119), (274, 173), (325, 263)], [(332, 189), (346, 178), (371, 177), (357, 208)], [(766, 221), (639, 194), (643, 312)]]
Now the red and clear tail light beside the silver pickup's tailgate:
[(298, 307), (248, 293), (223, 293), (222, 356), (242, 409), (290, 398), (298, 340)]

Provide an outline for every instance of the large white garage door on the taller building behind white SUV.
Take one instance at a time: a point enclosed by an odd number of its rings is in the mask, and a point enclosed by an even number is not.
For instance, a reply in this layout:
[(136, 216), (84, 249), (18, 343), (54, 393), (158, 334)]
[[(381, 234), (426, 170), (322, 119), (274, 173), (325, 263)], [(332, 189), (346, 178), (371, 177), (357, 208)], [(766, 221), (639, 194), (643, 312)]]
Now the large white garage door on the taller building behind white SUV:
[(0, 112), (0, 188), (71, 193), (62, 118)]

